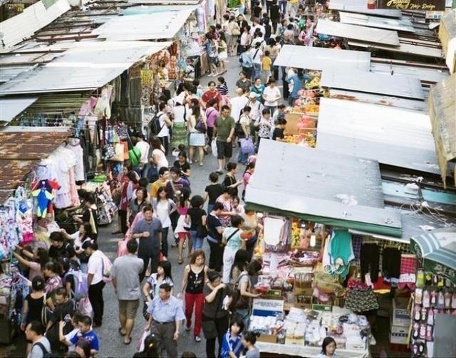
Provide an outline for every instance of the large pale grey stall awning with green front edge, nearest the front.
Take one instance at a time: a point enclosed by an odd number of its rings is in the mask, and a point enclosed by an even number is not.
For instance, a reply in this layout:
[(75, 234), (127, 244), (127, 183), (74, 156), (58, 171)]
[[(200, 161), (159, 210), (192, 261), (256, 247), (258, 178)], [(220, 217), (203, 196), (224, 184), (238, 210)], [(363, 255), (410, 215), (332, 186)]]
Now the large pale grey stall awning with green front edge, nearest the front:
[(246, 202), (257, 211), (401, 236), (400, 216), (383, 206), (380, 169), (371, 159), (264, 139)]

